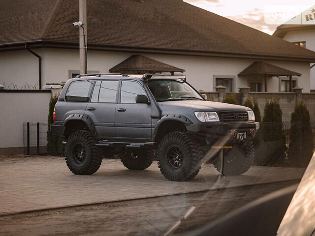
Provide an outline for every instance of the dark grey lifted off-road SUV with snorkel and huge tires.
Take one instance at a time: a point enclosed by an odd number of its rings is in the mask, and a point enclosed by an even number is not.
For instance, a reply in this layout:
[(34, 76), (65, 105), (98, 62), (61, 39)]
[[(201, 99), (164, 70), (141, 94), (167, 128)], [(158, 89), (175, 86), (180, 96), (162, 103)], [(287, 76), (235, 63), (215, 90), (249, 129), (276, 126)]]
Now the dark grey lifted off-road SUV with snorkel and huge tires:
[(169, 180), (195, 177), (210, 161), (224, 175), (251, 166), (259, 123), (243, 106), (206, 101), (185, 76), (87, 74), (64, 85), (51, 131), (63, 137), (66, 164), (95, 173), (102, 157), (118, 154), (130, 170), (156, 156)]

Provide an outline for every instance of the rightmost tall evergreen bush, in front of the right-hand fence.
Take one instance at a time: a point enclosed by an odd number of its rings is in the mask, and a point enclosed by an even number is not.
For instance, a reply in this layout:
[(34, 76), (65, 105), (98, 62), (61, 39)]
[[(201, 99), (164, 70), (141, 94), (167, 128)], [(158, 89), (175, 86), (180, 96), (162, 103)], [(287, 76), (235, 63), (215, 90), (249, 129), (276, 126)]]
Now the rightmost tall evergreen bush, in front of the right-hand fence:
[(294, 166), (306, 167), (314, 149), (310, 113), (303, 101), (295, 105), (291, 114), (288, 159)]

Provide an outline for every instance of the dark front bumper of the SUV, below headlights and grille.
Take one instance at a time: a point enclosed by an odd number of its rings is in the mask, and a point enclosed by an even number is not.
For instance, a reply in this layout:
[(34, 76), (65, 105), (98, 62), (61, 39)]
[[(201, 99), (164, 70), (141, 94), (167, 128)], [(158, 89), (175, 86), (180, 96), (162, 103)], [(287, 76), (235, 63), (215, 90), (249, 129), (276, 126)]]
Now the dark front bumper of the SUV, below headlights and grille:
[(230, 141), (251, 140), (259, 129), (259, 122), (252, 123), (204, 123), (187, 124), (189, 133), (203, 136), (207, 140), (228, 137)]

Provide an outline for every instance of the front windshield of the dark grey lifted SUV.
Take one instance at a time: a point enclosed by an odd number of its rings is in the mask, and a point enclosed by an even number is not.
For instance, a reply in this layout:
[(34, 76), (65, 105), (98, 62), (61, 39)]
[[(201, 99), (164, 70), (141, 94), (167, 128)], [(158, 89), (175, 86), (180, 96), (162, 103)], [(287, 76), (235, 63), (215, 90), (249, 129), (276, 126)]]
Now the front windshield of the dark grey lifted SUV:
[(149, 80), (151, 90), (157, 102), (171, 100), (204, 100), (189, 84), (179, 80)]

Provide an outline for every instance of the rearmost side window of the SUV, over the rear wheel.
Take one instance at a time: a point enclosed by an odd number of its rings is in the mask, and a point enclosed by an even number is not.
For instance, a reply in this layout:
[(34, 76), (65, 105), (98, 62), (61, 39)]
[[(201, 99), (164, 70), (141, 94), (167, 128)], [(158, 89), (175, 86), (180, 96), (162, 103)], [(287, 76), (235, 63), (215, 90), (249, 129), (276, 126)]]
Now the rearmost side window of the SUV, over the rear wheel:
[(67, 102), (88, 102), (92, 84), (93, 82), (88, 80), (72, 82), (65, 94), (65, 100)]

